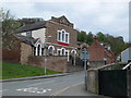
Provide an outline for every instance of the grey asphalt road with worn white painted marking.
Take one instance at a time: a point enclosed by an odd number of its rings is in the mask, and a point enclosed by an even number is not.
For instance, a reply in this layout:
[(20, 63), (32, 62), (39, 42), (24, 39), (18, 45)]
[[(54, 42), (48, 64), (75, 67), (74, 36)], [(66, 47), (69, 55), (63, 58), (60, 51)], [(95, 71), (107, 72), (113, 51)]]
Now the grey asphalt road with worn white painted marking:
[(84, 87), (84, 73), (2, 83), (2, 96), (96, 96)]

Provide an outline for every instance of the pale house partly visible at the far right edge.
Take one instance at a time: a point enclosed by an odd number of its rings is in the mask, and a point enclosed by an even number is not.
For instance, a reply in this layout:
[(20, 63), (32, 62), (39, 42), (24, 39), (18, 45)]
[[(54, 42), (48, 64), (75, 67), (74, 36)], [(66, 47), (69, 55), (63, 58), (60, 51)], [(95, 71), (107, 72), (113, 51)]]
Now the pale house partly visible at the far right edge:
[(131, 60), (131, 48), (127, 48), (121, 52), (121, 62), (129, 62)]

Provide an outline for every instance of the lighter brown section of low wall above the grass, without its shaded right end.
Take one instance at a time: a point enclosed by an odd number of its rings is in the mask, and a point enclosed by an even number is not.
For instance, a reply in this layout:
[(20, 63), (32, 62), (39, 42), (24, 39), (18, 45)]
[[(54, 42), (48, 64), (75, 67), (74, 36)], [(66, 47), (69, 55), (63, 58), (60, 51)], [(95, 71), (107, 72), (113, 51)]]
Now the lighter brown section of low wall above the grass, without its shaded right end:
[(45, 57), (29, 57), (28, 64), (34, 66), (53, 70), (57, 72), (67, 72), (67, 58), (66, 57), (46, 57), (47, 61), (45, 63)]

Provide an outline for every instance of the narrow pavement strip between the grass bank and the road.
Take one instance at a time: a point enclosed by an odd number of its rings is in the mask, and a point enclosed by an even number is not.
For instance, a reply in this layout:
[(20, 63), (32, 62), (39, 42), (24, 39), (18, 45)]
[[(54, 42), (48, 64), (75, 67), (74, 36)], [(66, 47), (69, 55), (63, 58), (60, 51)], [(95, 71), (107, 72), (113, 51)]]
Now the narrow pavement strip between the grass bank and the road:
[(29, 76), (29, 77), (19, 77), (19, 78), (8, 78), (8, 79), (0, 79), (0, 83), (15, 82), (15, 81), (26, 81), (26, 79), (38, 79), (38, 78), (49, 78), (49, 77), (66, 76), (66, 75), (70, 75), (70, 73), (41, 75), (41, 76)]

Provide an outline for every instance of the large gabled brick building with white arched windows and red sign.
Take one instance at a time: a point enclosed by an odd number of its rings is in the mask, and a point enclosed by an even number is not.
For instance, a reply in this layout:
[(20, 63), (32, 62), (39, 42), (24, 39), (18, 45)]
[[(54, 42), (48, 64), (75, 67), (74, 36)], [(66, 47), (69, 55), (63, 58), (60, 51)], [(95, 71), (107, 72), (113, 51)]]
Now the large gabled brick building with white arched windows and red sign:
[(52, 16), (49, 21), (24, 25), (17, 29), (17, 35), (38, 39), (34, 44), (34, 56), (70, 56), (76, 48), (76, 34), (73, 24), (64, 15)]

